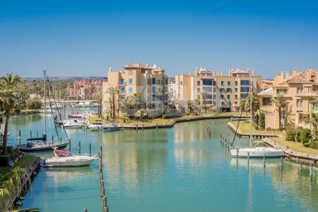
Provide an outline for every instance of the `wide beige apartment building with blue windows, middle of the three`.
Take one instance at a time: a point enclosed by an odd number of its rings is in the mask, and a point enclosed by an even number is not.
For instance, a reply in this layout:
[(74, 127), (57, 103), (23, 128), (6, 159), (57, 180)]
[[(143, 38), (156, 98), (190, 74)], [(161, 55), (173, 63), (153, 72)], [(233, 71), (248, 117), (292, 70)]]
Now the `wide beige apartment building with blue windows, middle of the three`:
[[(201, 106), (223, 112), (239, 111), (240, 100), (250, 92), (250, 70), (208, 71), (203, 68), (190, 71), (189, 75), (175, 76), (175, 99), (179, 108), (186, 107), (187, 100), (200, 100)], [(252, 71), (253, 92), (261, 91), (261, 76)], [(205, 100), (202, 93), (206, 94)]]

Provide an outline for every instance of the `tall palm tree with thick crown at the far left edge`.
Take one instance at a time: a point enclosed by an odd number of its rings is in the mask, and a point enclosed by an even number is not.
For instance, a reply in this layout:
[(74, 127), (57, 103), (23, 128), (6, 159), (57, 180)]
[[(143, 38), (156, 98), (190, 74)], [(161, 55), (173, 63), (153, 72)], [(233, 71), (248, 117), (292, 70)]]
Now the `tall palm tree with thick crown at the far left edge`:
[(3, 154), (8, 153), (7, 140), (8, 140), (8, 123), (11, 111), (15, 109), (16, 106), (16, 96), (17, 86), (22, 83), (22, 77), (19, 75), (13, 75), (12, 73), (7, 74), (6, 77), (0, 78), (0, 111), (6, 116), (6, 123), (4, 126), (3, 135)]

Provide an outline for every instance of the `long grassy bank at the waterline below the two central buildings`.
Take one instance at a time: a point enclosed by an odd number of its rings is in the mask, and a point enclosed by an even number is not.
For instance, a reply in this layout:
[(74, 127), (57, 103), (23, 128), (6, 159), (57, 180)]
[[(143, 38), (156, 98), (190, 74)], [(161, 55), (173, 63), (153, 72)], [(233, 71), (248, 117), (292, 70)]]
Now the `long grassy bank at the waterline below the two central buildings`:
[[(211, 113), (211, 114), (198, 114), (198, 115), (185, 115), (181, 116), (178, 118), (167, 118), (167, 119), (161, 119), (161, 118), (156, 118), (156, 119), (147, 119), (143, 122), (136, 120), (134, 121), (133, 119), (126, 119), (124, 122), (124, 119), (116, 119), (115, 123), (120, 126), (136, 126), (137, 124), (141, 126), (143, 123), (144, 125), (164, 125), (164, 124), (170, 124), (172, 123), (175, 119), (198, 119), (201, 117), (217, 117), (217, 116), (226, 116), (226, 117), (231, 117), (231, 116), (239, 116), (240, 112), (227, 112), (227, 113)], [(93, 123), (96, 120), (101, 120), (99, 117), (90, 117), (89, 118), (89, 124)], [(105, 124), (107, 124), (107, 121), (103, 121)]]

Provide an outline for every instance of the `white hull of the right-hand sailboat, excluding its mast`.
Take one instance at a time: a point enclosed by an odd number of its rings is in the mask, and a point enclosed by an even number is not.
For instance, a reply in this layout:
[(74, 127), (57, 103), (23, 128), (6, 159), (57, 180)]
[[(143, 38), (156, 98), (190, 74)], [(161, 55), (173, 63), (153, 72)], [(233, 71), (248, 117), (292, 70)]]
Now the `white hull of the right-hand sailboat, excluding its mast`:
[(254, 147), (254, 148), (243, 148), (243, 149), (231, 149), (232, 157), (243, 157), (247, 158), (279, 158), (284, 156), (284, 151), (275, 149), (272, 147)]

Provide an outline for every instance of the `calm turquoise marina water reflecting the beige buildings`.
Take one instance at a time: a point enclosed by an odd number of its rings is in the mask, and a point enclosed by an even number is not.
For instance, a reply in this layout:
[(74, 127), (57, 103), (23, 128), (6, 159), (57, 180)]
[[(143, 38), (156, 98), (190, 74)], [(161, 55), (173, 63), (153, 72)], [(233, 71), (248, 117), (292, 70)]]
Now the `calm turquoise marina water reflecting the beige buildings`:
[[(51, 119), (52, 120), (52, 119)], [(118, 132), (68, 129), (77, 153), (103, 145), (103, 172), (110, 211), (318, 211), (317, 170), (280, 159), (232, 159), (219, 135), (233, 138), (225, 120), (211, 121), (212, 137), (204, 121), (178, 123), (174, 128)], [(48, 137), (55, 133), (52, 121)], [(41, 115), (11, 119), (11, 143), (18, 130), (41, 134)], [(247, 139), (236, 145), (247, 146)], [(41, 156), (51, 156), (45, 153)], [(41, 169), (23, 202), (42, 211), (101, 211), (96, 163), (92, 167)]]

